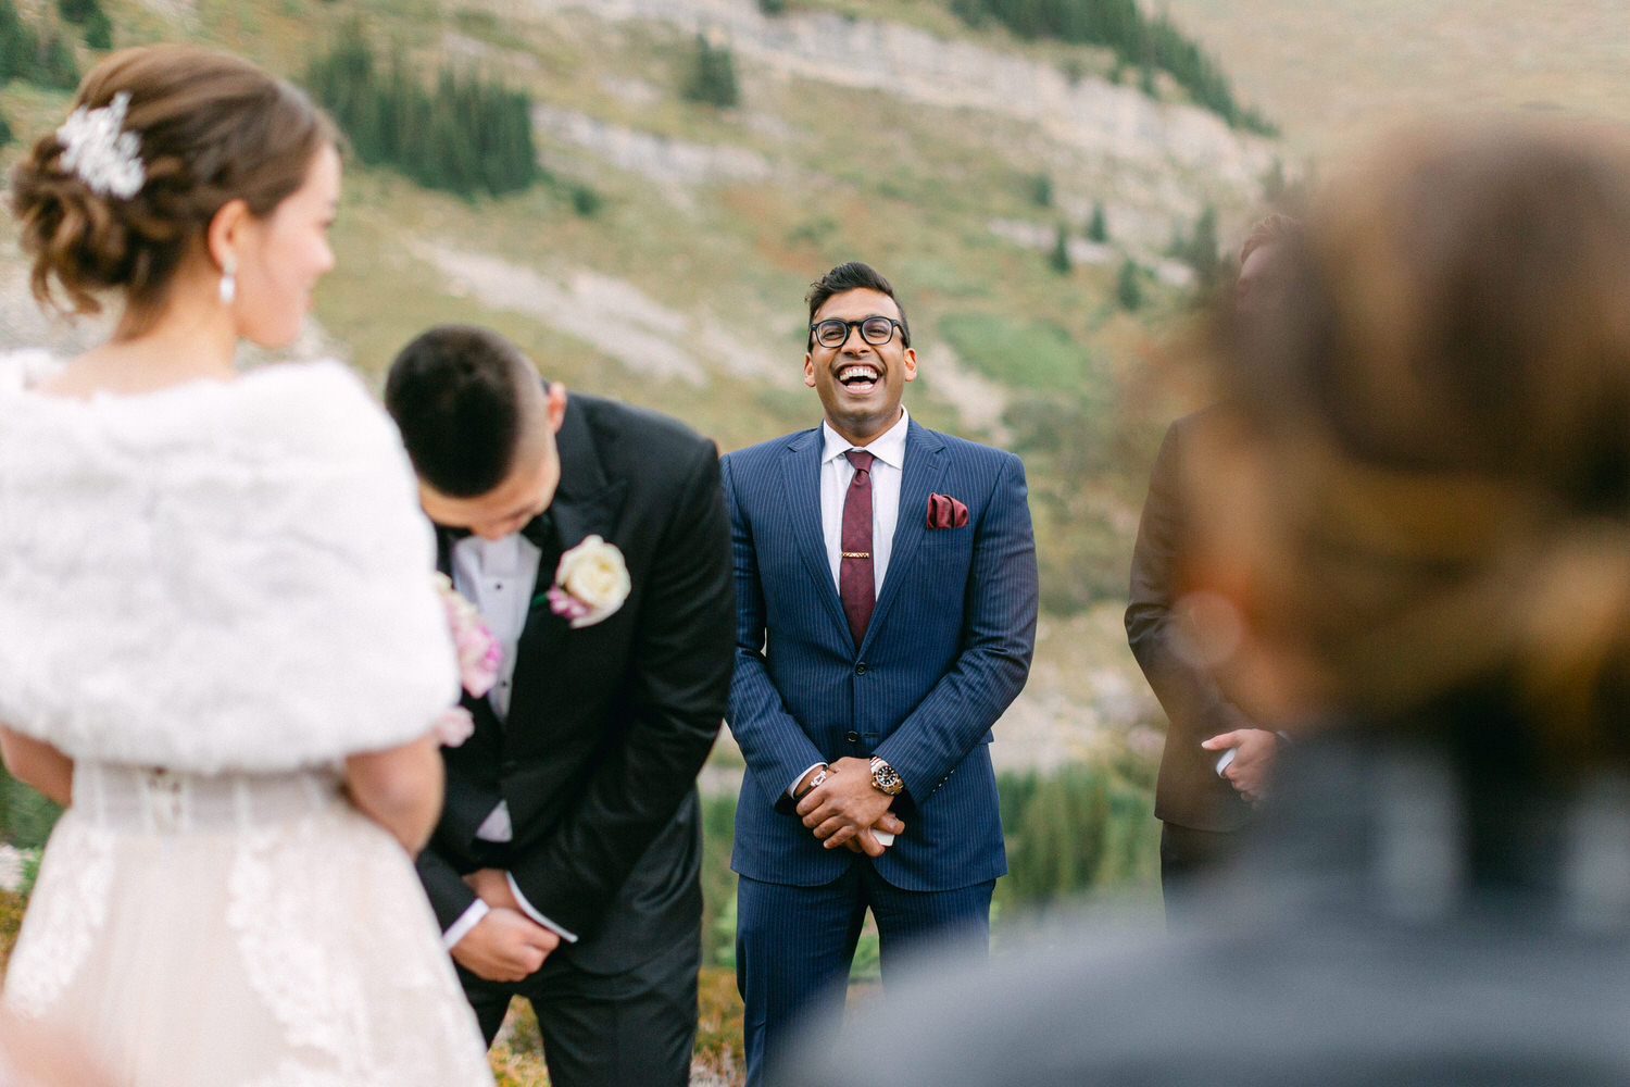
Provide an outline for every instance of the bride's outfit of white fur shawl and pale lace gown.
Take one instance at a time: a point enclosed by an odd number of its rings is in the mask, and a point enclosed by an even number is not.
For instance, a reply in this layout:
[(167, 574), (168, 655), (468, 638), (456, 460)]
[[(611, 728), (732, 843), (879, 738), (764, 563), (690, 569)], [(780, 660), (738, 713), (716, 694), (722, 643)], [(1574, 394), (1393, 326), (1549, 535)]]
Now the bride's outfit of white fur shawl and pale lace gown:
[(336, 362), (72, 401), (0, 357), (0, 722), (75, 759), (3, 1002), (140, 1087), (491, 1085), (341, 790), (456, 675), (399, 438)]

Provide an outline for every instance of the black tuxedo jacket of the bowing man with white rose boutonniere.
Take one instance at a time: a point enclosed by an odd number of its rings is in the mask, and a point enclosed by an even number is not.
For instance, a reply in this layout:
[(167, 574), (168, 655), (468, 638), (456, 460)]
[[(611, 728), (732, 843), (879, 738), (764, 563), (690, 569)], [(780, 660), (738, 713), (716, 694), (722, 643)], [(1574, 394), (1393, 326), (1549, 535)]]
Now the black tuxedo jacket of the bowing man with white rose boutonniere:
[[(730, 689), (730, 525), (714, 445), (665, 416), (574, 393), (557, 447), (559, 551), (538, 566), (509, 720), (465, 699), (476, 730), (443, 748), (447, 802), (419, 875), (448, 927), (474, 901), (460, 874), (492, 857), (476, 828), (505, 800), (505, 867), (579, 935), (554, 957), (616, 973), (701, 921), (696, 774)], [(570, 629), (544, 592), (561, 551), (590, 535), (623, 551), (632, 588), (615, 614)], [(443, 570), (448, 546), (440, 533)]]

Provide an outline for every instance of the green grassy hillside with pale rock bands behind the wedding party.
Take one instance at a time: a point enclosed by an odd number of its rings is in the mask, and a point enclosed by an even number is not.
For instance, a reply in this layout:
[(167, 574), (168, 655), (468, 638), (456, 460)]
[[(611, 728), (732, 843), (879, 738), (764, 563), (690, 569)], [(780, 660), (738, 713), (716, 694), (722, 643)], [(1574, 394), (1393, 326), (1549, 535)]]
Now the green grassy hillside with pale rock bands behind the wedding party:
[[(191, 37), (298, 78), (360, 36), (425, 81), (450, 64), (531, 95), (549, 181), (522, 194), (466, 200), (349, 168), (315, 316), (365, 373), (432, 321), (478, 321), (569, 388), (668, 411), (729, 450), (817, 422), (802, 295), (839, 261), (877, 264), (911, 318), (913, 414), (1029, 466), (1050, 616), (1038, 681), (1055, 680), (1014, 714), (1053, 748), (1076, 733), (1074, 755), (1152, 717), (1126, 694), (1139, 684), (1113, 613), (1169, 414), (1144, 396), (1148, 347), (1192, 300), (1165, 253), (1206, 207), (1237, 233), (1271, 143), (1174, 86), (1112, 83), (1105, 51), (970, 31), (931, 0), (805, 0), (776, 18), (756, 0), (104, 3), (116, 44)], [(699, 33), (732, 51), (740, 106), (681, 96)], [(64, 103), (13, 83), (0, 111), (33, 139)], [(1104, 244), (1084, 236), (1094, 207)], [(1048, 257), (1060, 230), (1068, 271)], [(1128, 261), (1136, 313), (1115, 295)], [(0, 336), (39, 331), (13, 253)]]

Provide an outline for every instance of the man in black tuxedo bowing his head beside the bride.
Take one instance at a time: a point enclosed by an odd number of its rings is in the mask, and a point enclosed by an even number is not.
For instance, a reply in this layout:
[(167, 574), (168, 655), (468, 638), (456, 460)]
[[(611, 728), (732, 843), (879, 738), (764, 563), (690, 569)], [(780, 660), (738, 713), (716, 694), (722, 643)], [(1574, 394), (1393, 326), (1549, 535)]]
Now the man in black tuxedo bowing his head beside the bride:
[[(714, 445), (540, 381), (438, 326), (385, 403), (442, 570), (504, 649), (445, 748), (419, 875), (491, 1043), (531, 1001), (557, 1087), (683, 1084), (696, 1032), (696, 772), (730, 688), (735, 593)], [(621, 567), (626, 567), (626, 575)]]

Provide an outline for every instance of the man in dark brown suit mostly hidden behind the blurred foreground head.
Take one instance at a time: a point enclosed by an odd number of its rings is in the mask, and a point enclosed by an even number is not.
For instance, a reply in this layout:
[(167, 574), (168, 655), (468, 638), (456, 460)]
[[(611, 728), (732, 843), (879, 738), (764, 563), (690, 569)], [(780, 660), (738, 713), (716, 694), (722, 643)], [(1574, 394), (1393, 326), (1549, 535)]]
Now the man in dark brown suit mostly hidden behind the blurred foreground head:
[[(1234, 313), (1245, 324), (1271, 319), (1283, 305), (1289, 246), (1301, 225), (1289, 215), (1258, 220), (1245, 235), (1234, 284)], [(1154, 792), (1161, 820), (1161, 887), (1167, 916), (1182, 909), (1185, 888), (1237, 847), (1268, 790), (1281, 737), (1257, 728), (1218, 688), (1216, 678), (1178, 631), (1174, 605), (1182, 595), (1182, 556), (1193, 531), (1183, 500), (1185, 460), (1193, 433), (1216, 414), (1175, 420), (1149, 473), (1149, 497), (1138, 521), (1126, 605), (1126, 640), (1161, 699), (1169, 725)]]

